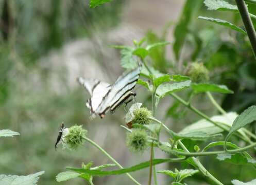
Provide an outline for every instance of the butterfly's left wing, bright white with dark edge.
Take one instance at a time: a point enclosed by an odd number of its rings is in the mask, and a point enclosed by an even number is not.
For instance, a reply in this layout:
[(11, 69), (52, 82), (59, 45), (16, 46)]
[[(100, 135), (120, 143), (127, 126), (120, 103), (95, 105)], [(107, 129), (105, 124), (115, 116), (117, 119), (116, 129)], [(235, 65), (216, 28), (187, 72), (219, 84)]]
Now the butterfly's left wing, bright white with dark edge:
[(86, 105), (91, 110), (92, 118), (95, 117), (96, 109), (103, 101), (106, 94), (110, 91), (111, 85), (106, 82), (101, 82), (97, 79), (84, 79), (82, 77), (78, 78), (78, 82), (87, 89), (91, 98), (88, 99)]

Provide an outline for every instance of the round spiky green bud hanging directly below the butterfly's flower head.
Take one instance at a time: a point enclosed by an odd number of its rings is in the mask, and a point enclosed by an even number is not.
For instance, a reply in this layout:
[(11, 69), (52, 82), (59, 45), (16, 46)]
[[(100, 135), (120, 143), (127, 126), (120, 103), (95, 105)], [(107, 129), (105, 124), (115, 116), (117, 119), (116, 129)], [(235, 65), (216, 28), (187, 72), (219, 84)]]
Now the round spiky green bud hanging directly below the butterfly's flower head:
[(131, 152), (144, 153), (149, 146), (147, 132), (139, 128), (133, 129), (127, 134), (126, 143)]

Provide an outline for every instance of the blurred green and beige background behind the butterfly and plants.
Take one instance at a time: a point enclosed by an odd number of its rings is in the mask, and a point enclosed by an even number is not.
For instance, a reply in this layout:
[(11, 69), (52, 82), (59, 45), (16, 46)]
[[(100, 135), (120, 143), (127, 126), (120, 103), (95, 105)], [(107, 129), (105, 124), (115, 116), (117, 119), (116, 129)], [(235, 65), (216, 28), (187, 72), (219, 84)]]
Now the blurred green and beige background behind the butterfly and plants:
[[(126, 147), (125, 131), (120, 127), (125, 124), (124, 108), (103, 120), (91, 121), (85, 106), (89, 95), (76, 83), (78, 76), (114, 82), (123, 70), (119, 51), (110, 45), (131, 45), (133, 39), (140, 40), (145, 35), (148, 43), (159, 40), (182, 43), (178, 56), (172, 46), (156, 49), (150, 55), (151, 64), (158, 70), (185, 74), (190, 62), (203, 62), (210, 70), (211, 82), (226, 84), (235, 91), (234, 95), (215, 95), (227, 111), (240, 113), (255, 104), (256, 63), (248, 39), (241, 33), (196, 18), (197, 15), (225, 17), (242, 26), (239, 14), (207, 11), (201, 1), (184, 27), (179, 20), (184, 20), (183, 7), (187, 2), (114, 0), (90, 9), (89, 1), (84, 0), (0, 0), (0, 130), (21, 134), (0, 139), (0, 174), (27, 175), (44, 170), (39, 184), (58, 184), (55, 176), (67, 166), (80, 167), (82, 162), (89, 161), (95, 165), (110, 162), (90, 145), (77, 152), (62, 151), (59, 146), (55, 152), (62, 121), (67, 127), (82, 124), (89, 131), (89, 138), (125, 167), (148, 160), (147, 152), (131, 154)], [(254, 6), (249, 9), (256, 13)], [(136, 100), (150, 107), (149, 94), (144, 92), (137, 87)], [(209, 116), (218, 114), (207, 102), (200, 95), (193, 103)], [(157, 117), (166, 120), (174, 131), (199, 119), (169, 98), (160, 102)], [(251, 129), (255, 131), (253, 126)], [(166, 139), (164, 134), (162, 137)], [(186, 145), (194, 143), (187, 141)], [(156, 155), (168, 157), (161, 151)], [(249, 181), (256, 177), (248, 166), (219, 162), (214, 157), (202, 158), (202, 162), (224, 184), (231, 184), (232, 179)], [(184, 165), (162, 164), (157, 169), (180, 169)], [(146, 184), (148, 169), (133, 176)], [(159, 175), (159, 184), (170, 181)], [(210, 183), (206, 181), (197, 174), (186, 182)], [(126, 176), (94, 178), (94, 182), (131, 184)], [(75, 179), (61, 184), (84, 183)]]

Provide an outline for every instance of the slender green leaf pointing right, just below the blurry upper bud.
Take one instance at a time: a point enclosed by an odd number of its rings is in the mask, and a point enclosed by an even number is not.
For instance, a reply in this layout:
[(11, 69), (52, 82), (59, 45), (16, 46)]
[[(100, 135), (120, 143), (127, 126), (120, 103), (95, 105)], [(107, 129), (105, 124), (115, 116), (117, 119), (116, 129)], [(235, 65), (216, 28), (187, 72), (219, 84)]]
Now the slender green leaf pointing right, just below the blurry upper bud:
[(223, 94), (233, 94), (232, 90), (229, 90), (226, 85), (216, 85), (210, 83), (192, 83), (191, 88), (195, 93), (205, 93), (207, 91)]

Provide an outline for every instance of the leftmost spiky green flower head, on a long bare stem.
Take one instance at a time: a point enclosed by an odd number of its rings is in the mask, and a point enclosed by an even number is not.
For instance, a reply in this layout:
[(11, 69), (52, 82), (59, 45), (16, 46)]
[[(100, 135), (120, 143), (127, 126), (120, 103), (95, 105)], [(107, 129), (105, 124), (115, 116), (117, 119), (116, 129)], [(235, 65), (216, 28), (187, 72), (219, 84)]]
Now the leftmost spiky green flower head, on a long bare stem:
[(69, 132), (63, 136), (63, 141), (66, 147), (70, 150), (77, 150), (84, 143), (84, 137), (87, 135), (87, 130), (82, 128), (82, 125), (74, 125), (69, 128)]

